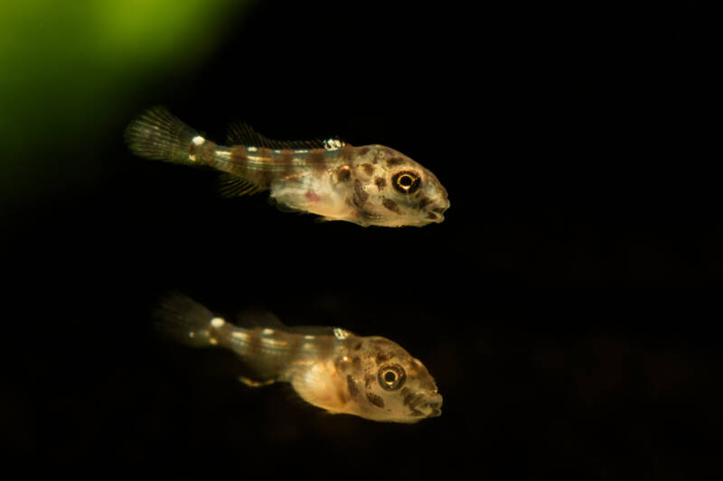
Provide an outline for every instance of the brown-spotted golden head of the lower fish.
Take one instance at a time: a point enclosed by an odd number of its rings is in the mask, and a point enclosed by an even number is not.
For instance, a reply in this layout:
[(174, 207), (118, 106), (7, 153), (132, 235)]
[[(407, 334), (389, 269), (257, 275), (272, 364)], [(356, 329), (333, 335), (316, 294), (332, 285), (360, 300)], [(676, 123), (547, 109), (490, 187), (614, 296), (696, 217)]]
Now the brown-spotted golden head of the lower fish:
[(427, 368), (386, 338), (359, 338), (340, 358), (346, 412), (373, 421), (417, 422), (442, 413), (442, 396)]

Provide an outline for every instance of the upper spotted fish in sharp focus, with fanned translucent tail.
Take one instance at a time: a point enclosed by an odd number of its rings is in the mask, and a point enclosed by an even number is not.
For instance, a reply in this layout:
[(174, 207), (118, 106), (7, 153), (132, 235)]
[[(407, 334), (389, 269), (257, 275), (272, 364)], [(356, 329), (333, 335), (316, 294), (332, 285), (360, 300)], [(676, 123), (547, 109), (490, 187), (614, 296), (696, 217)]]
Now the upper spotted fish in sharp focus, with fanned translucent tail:
[(131, 152), (166, 162), (209, 166), (228, 197), (269, 190), (282, 209), (360, 226), (426, 226), (449, 208), (445, 188), (424, 167), (383, 145), (338, 139), (279, 142), (232, 125), (230, 146), (202, 137), (163, 107), (126, 129)]

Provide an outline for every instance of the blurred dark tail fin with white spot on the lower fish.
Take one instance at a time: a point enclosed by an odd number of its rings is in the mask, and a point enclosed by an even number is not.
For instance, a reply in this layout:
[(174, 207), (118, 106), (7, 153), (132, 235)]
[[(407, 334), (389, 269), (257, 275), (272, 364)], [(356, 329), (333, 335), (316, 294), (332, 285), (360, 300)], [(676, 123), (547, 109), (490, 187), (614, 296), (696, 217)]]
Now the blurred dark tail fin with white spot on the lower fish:
[(183, 294), (166, 296), (159, 303), (154, 317), (158, 331), (186, 346), (217, 346), (228, 338), (223, 319)]

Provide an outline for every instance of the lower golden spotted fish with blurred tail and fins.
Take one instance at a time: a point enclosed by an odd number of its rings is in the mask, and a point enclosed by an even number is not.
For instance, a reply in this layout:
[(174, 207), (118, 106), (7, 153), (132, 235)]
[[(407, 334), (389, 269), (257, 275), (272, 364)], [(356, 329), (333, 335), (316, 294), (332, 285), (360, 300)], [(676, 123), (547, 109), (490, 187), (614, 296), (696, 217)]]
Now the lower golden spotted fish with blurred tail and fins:
[(240, 378), (244, 384), (286, 382), (327, 412), (372, 421), (412, 423), (441, 414), (434, 379), (397, 343), (343, 328), (289, 328), (268, 312), (247, 317), (255, 327), (235, 326), (180, 294), (164, 300), (156, 315), (157, 327), (176, 341), (235, 352), (251, 373)]

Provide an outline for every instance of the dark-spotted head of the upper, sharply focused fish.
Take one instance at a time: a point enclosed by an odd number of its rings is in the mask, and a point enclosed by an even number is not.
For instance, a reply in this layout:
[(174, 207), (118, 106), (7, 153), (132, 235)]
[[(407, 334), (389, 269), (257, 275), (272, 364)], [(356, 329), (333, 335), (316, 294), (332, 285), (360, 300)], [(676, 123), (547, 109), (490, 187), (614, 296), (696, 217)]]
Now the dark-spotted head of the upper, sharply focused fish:
[(401, 227), (442, 222), (449, 199), (437, 177), (383, 145), (358, 147), (351, 205), (362, 225)]

